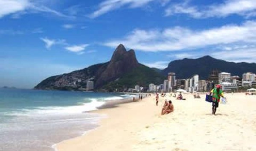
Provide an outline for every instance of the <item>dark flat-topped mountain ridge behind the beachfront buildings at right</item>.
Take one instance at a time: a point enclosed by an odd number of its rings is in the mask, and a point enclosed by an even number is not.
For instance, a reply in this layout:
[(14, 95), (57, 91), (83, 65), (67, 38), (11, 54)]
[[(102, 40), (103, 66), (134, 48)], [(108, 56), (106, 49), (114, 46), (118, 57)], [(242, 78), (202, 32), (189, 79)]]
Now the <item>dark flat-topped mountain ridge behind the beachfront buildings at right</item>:
[(163, 75), (169, 72), (176, 73), (177, 78), (191, 78), (198, 74), (200, 79), (207, 79), (212, 69), (218, 69), (221, 72), (231, 73), (231, 75), (242, 76), (243, 73), (256, 73), (255, 63), (246, 62), (226, 62), (224, 60), (215, 59), (211, 56), (203, 56), (198, 59), (182, 59), (175, 60), (168, 64), (168, 67), (162, 71)]

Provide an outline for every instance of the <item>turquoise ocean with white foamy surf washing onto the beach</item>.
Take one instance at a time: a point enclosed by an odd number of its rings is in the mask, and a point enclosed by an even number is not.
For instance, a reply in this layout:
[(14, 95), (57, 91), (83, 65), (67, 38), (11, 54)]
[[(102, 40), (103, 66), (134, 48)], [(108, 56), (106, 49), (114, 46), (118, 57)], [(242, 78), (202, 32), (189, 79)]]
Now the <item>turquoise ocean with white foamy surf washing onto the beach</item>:
[(134, 96), (0, 89), (0, 151), (54, 151), (54, 144), (95, 129), (105, 116), (87, 111)]

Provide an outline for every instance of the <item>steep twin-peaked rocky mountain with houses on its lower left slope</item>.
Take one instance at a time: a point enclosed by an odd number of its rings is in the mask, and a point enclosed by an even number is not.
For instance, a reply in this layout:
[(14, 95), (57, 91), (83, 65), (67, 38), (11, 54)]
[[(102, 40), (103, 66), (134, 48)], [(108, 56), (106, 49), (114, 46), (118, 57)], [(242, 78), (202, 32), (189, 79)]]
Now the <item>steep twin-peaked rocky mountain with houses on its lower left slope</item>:
[(161, 84), (163, 79), (161, 73), (140, 64), (134, 50), (127, 51), (120, 44), (109, 62), (46, 78), (35, 89), (79, 90), (86, 88), (87, 81), (94, 81), (96, 90), (123, 91), (136, 84), (143, 87), (150, 83)]

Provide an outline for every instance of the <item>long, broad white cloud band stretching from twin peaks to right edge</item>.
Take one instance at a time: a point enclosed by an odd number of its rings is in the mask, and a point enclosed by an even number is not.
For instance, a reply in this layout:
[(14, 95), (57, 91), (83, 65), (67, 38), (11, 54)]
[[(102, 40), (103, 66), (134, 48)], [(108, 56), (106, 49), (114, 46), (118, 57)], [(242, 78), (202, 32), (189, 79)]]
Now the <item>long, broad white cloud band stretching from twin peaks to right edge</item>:
[(176, 51), (235, 42), (255, 43), (256, 22), (247, 21), (241, 25), (224, 25), (201, 31), (182, 27), (148, 31), (136, 29), (122, 39), (113, 39), (103, 45), (115, 48), (122, 43), (143, 51)]

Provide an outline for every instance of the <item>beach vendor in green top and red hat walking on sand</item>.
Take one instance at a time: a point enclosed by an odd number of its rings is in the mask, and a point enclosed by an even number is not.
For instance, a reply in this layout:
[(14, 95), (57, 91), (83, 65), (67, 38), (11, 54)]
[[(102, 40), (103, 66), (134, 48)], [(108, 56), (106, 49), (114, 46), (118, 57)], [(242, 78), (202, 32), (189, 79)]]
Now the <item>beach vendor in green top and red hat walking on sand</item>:
[(221, 85), (217, 85), (212, 91), (212, 114), (215, 115), (216, 109), (218, 108), (218, 104), (220, 102), (221, 97), (224, 97), (223, 91), (221, 89)]

